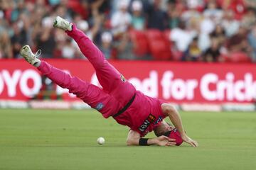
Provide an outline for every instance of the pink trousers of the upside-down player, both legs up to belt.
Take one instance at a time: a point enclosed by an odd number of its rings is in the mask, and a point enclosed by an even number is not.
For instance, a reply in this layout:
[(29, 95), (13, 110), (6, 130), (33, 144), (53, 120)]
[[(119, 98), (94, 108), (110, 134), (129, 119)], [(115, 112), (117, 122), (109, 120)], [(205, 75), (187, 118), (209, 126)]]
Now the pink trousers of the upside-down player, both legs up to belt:
[(102, 52), (75, 25), (72, 31), (66, 31), (66, 33), (78, 43), (82, 54), (92, 63), (103, 89), (82, 81), (78, 77), (71, 77), (70, 74), (44, 61), (41, 62), (38, 70), (55, 84), (69, 89), (70, 93), (100, 111), (105, 118), (114, 115), (134, 96), (136, 91), (134, 86), (122, 77), (122, 74), (105, 59)]

